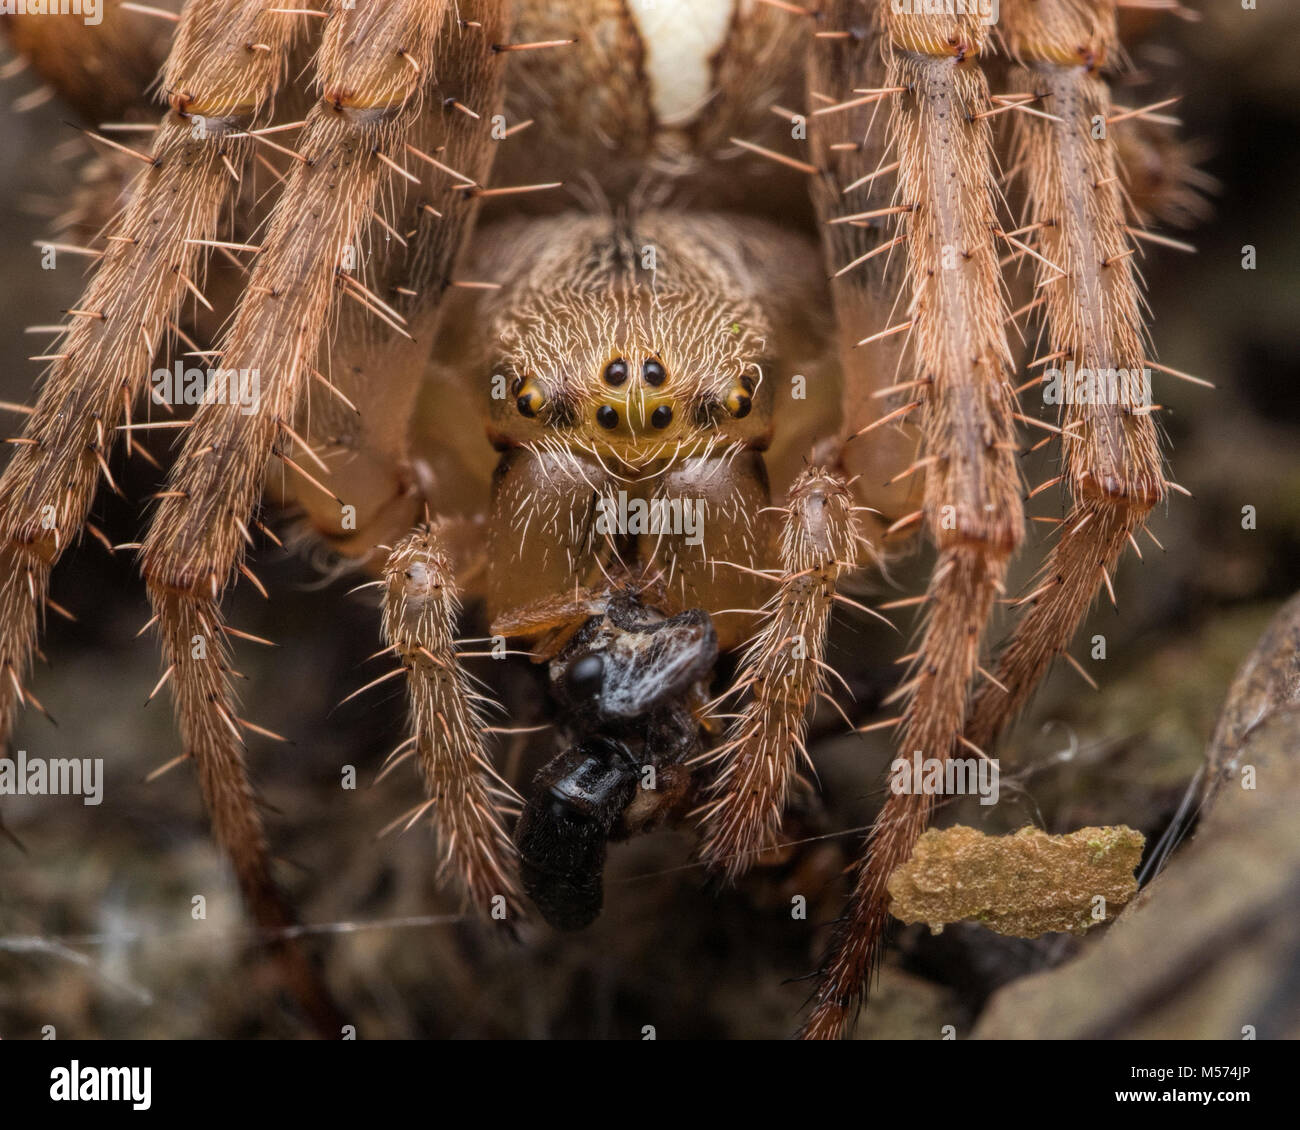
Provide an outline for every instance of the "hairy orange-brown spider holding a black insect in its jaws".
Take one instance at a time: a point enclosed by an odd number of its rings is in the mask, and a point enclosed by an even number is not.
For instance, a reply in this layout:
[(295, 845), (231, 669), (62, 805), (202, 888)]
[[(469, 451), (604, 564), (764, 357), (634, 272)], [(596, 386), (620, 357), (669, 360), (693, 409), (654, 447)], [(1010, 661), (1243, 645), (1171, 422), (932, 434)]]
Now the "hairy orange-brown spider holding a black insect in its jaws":
[[(107, 14), (99, 35), (10, 22), (88, 112), (131, 107), (124, 86), (159, 61), (124, 31), (143, 16)], [(101, 138), (142, 168), (0, 480), (0, 731), (39, 705), (23, 680), (51, 570), (112, 485), (114, 441), (174, 428), (133, 547), (185, 757), (261, 926), (291, 914), (221, 606), (239, 577), (260, 586), (268, 482), (303, 537), (377, 576), (416, 817), (507, 928), (525, 888), (558, 925), (589, 921), (604, 837), (655, 821), (698, 826), (729, 880), (780, 844), (832, 614), (879, 615), (849, 585), (919, 536), (935, 563), (893, 602), (919, 612), (898, 710), (866, 728), (907, 756), (984, 754), (1176, 489), (1156, 406), (1127, 394), (1161, 368), (1135, 251), (1183, 181), (1164, 103), (1112, 103), (1114, 0), (188, 0), (173, 20), (166, 111), (147, 152)], [(98, 90), (57, 53), (74, 36), (112, 77)], [(217, 255), (243, 273), (209, 299)], [(229, 311), (209, 350), (182, 325), (198, 304)], [(1030, 322), (1034, 359), (1009, 338)], [(169, 419), (146, 394), (182, 346), (208, 384)], [(1022, 410), (1071, 367), (1130, 376), (1057, 424)], [(133, 423), (142, 403), (155, 419)], [(1020, 424), (1061, 442), (1030, 494), (1060, 484), (1065, 519), (1013, 601)], [(528, 800), (491, 766), (462, 599), (550, 663), (572, 744)], [(989, 657), (1000, 602), (1018, 619)], [(852, 1026), (885, 882), (932, 805), (880, 811), (805, 1036)]]

